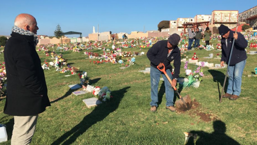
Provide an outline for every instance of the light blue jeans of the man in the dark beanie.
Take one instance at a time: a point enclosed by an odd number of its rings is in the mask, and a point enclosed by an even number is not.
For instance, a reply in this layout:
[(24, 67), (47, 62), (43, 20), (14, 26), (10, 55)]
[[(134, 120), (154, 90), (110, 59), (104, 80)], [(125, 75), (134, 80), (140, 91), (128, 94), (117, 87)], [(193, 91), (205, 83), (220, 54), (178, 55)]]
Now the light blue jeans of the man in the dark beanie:
[(240, 96), (245, 63), (246, 60), (228, 67), (228, 94)]

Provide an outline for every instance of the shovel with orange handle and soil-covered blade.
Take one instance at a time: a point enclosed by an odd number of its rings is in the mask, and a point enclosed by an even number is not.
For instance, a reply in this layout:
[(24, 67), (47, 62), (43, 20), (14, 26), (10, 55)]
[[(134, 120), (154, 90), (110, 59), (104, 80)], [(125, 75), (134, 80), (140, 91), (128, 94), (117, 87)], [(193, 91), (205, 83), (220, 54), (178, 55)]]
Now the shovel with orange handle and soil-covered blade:
[[(170, 77), (168, 76), (167, 72), (165, 71), (165, 66), (164, 64), (162, 64), (163, 68), (160, 69), (158, 66), (157, 66), (157, 69), (161, 72), (163, 72), (166, 76), (166, 78), (169, 80), (170, 84), (172, 84), (172, 81), (170, 80)], [(186, 111), (186, 110), (189, 110), (191, 109), (191, 106), (192, 106), (192, 101), (191, 101), (191, 98), (189, 95), (186, 95), (182, 98), (182, 96), (180, 95), (180, 93), (178, 92), (177, 88), (176, 87), (173, 87), (173, 89), (176, 91), (176, 93), (178, 94), (179, 96), (179, 100), (175, 102), (175, 105), (178, 109), (182, 110), (182, 111)]]

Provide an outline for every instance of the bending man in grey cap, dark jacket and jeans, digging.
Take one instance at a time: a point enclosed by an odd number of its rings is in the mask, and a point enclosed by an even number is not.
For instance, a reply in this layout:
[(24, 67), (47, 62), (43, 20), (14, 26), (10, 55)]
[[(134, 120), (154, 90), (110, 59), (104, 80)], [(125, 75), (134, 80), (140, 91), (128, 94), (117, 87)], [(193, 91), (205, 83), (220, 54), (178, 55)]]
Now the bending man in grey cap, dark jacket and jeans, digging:
[[(151, 111), (155, 112), (158, 105), (158, 85), (160, 81), (160, 74), (164, 79), (165, 84), (165, 93), (166, 93), (166, 109), (170, 111), (175, 111), (174, 107), (174, 90), (173, 86), (176, 86), (177, 79), (180, 73), (180, 50), (178, 48), (178, 42), (180, 41), (180, 36), (178, 34), (172, 34), (168, 40), (162, 40), (155, 43), (152, 48), (150, 48), (147, 52), (147, 57), (150, 60), (150, 77), (151, 77)], [(170, 62), (174, 60), (174, 74), (172, 76), (172, 66)], [(157, 69), (162, 68), (164, 64), (166, 72), (170, 79), (172, 80), (172, 84), (168, 81), (164, 73)]]

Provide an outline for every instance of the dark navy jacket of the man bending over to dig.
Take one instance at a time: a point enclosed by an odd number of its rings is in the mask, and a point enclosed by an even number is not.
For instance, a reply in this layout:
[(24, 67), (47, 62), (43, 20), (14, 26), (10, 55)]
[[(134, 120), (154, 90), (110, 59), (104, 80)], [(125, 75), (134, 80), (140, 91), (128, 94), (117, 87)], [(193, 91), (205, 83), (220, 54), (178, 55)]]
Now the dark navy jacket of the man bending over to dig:
[(174, 60), (174, 78), (178, 78), (180, 74), (181, 57), (178, 46), (175, 46), (168, 56), (168, 40), (162, 40), (155, 43), (147, 52), (147, 57), (150, 60), (150, 65), (157, 68), (160, 63), (163, 63), (165, 69), (172, 69), (170, 62)]

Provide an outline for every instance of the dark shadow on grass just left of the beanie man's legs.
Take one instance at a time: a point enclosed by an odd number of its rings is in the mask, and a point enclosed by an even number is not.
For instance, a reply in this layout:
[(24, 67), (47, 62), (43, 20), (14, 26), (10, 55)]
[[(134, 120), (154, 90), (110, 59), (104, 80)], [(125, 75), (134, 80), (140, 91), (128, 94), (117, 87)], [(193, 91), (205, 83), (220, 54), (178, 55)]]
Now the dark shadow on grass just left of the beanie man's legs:
[[(210, 74), (212, 75), (213, 81), (217, 82), (218, 91), (219, 91), (219, 99), (220, 99), (221, 91), (222, 91), (222, 88), (220, 88), (220, 86), (223, 86), (223, 84), (224, 84), (225, 74), (223, 72), (212, 70), (212, 69), (208, 70), (208, 72), (210, 72)], [(220, 85), (219, 85), (219, 83), (220, 83)], [(225, 94), (227, 88), (228, 88), (228, 78), (226, 80), (226, 84), (225, 84), (225, 88), (224, 88), (224, 93), (223, 94)]]

